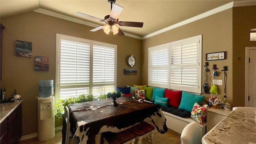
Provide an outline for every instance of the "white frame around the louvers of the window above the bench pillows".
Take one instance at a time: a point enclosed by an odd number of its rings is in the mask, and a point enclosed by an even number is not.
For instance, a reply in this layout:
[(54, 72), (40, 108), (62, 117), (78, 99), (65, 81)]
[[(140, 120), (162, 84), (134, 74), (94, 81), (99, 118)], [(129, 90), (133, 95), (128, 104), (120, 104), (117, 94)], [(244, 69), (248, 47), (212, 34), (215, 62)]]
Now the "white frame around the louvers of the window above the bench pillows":
[[(175, 45), (175, 44), (178, 44), (178, 43), (182, 43), (182, 42), (188, 42), (188, 41), (191, 41), (191, 40), (197, 40), (198, 42), (198, 45), (197, 45), (197, 62), (196, 62), (196, 70), (197, 70), (197, 80), (196, 80), (196, 87), (194, 88), (188, 88), (186, 86), (174, 86), (173, 84), (171, 85), (171, 67), (174, 66), (172, 64), (172, 60), (171, 60), (171, 47), (172, 45)], [(154, 82), (150, 82), (150, 72), (152, 70), (152, 66), (150, 66), (151, 64), (151, 52), (154, 51), (154, 50), (160, 50), (160, 49), (163, 49), (163, 48), (166, 48), (168, 47), (168, 82), (167, 84), (158, 84), (158, 83), (154, 83)], [(180, 64), (182, 66), (182, 64)], [(187, 67), (189, 65), (192, 65), (192, 64), (184, 64), (183, 66)], [(195, 64), (193, 64), (194, 66), (196, 66)], [(177, 66), (177, 64), (176, 64)], [(151, 47), (151, 48), (148, 48), (148, 85), (149, 86), (156, 86), (156, 87), (161, 87), (161, 88), (168, 88), (168, 89), (172, 89), (172, 90), (184, 90), (184, 91), (187, 91), (187, 92), (192, 92), (192, 93), (195, 93), (195, 94), (201, 94), (202, 92), (202, 35), (198, 35), (198, 36), (193, 36), (193, 37), (190, 37), (190, 38), (185, 38), (185, 39), (182, 39), (182, 40), (177, 40), (177, 41), (174, 41), (174, 42), (169, 42), (167, 44), (162, 44), (162, 45), (158, 45), (158, 46), (154, 46), (154, 47)]]

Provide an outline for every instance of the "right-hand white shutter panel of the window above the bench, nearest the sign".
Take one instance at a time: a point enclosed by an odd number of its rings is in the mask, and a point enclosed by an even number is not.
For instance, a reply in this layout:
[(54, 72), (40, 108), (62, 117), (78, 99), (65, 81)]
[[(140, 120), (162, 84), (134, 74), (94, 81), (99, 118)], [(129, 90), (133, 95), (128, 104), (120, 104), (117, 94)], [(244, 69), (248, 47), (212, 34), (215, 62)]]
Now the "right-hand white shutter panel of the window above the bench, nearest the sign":
[(199, 42), (199, 38), (191, 38), (170, 44), (171, 89), (199, 92)]

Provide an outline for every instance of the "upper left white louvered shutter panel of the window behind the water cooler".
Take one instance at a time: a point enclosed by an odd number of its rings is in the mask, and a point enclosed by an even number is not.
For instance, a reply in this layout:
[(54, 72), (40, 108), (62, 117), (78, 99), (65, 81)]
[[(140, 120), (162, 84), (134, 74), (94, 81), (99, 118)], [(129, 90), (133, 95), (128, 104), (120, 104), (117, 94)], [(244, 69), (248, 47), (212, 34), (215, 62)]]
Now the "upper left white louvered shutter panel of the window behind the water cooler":
[(61, 40), (60, 86), (76, 83), (89, 84), (90, 42)]

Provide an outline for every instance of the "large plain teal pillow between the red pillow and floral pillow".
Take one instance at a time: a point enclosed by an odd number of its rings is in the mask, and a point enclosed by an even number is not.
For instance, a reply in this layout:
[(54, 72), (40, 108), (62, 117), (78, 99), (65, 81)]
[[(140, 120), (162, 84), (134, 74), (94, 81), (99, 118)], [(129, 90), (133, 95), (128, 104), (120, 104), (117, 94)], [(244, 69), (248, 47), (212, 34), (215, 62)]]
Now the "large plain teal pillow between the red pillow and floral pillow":
[(203, 100), (204, 100), (204, 96), (182, 91), (179, 109), (187, 110), (191, 112), (195, 102), (202, 105)]

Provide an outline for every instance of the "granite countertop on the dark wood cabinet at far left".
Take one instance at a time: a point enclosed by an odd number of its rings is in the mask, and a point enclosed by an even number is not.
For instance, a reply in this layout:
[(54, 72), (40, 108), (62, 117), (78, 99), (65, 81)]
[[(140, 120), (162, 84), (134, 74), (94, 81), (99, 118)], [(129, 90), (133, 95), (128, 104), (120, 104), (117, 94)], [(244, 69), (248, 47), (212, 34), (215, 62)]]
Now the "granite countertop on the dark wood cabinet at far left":
[(20, 102), (7, 102), (0, 104), (0, 124), (17, 108)]

